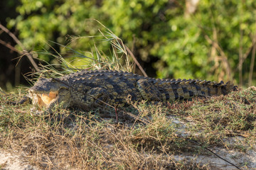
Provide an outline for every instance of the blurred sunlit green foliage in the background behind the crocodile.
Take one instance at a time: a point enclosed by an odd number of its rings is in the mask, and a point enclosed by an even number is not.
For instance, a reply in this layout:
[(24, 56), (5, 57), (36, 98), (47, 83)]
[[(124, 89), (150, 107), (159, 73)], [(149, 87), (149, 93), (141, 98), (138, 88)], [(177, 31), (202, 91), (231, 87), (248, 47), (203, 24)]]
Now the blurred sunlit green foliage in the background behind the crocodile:
[[(254, 0), (200, 0), (196, 12), (189, 16), (184, 14), (186, 1), (175, 0), (21, 0), (16, 10), (19, 16), (7, 18), (8, 26), (18, 30), (18, 38), (28, 50), (47, 50), (48, 40), (67, 44), (68, 35), (94, 35), (74, 40), (68, 46), (86, 52), (97, 43), (99, 50), (111, 55), (109, 44), (96, 36), (101, 35), (98, 29), (104, 32), (104, 28), (87, 19), (95, 18), (143, 62), (157, 58), (151, 63), (157, 77), (234, 79), (244, 84), (249, 79), (253, 61), (250, 48), (256, 35)], [(248, 50), (241, 79), (239, 55)], [(38, 57), (53, 60), (46, 55)], [(255, 79), (255, 69), (253, 73)]]

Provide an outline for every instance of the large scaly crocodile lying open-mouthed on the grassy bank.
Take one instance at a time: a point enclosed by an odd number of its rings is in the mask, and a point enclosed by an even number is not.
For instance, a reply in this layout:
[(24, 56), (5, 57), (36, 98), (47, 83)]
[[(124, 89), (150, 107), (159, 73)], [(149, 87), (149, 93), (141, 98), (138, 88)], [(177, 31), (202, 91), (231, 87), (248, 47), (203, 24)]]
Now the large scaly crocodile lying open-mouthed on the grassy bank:
[(123, 107), (131, 101), (173, 102), (196, 96), (225, 95), (235, 89), (223, 81), (194, 79), (154, 79), (129, 72), (108, 70), (82, 71), (60, 78), (39, 79), (28, 90), (34, 105), (89, 110), (106, 103)]

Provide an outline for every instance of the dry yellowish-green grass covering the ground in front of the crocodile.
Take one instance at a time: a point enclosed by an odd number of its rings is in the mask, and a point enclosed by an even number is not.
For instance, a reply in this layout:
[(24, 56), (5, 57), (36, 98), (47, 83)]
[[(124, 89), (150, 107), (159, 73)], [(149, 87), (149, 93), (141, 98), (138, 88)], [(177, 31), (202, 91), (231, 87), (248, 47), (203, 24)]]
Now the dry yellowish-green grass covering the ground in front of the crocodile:
[[(0, 146), (25, 153), (27, 161), (41, 169), (210, 169), (174, 156), (210, 154), (192, 140), (204, 147), (243, 152), (254, 148), (255, 94), (245, 90), (169, 106), (135, 103), (119, 111), (115, 124), (111, 109), (60, 110), (36, 117), (30, 114), (31, 105), (7, 105), (21, 98), (21, 90), (0, 96)], [(226, 140), (235, 136), (245, 138)]]

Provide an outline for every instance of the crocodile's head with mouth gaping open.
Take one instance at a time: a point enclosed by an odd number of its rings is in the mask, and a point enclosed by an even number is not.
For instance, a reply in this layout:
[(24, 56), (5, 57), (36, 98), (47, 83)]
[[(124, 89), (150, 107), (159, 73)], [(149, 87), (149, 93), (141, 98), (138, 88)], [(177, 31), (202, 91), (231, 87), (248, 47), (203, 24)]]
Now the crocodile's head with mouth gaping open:
[(48, 107), (50, 103), (57, 100), (60, 89), (68, 89), (58, 79), (39, 79), (33, 87), (28, 90), (28, 95), (33, 101), (33, 105)]

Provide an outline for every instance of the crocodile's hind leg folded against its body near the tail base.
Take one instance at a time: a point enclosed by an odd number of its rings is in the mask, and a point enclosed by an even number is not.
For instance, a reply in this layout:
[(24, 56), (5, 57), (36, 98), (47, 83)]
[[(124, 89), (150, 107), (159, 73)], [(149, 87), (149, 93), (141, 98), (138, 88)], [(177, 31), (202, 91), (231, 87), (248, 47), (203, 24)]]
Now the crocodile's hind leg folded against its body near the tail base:
[(154, 84), (146, 79), (139, 79), (137, 81), (137, 88), (146, 101), (166, 101), (165, 94), (161, 93)]

